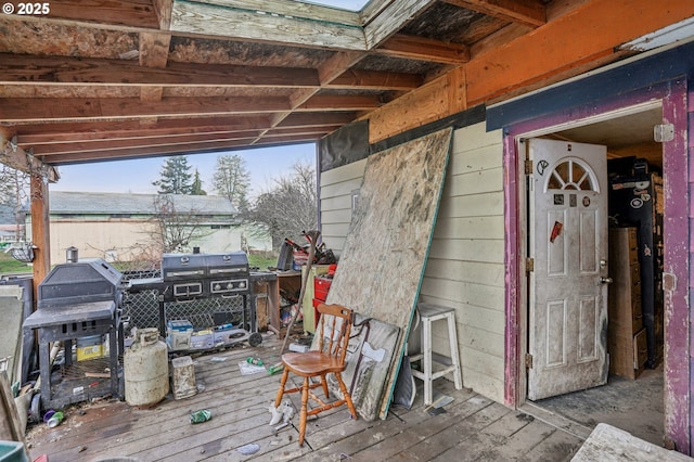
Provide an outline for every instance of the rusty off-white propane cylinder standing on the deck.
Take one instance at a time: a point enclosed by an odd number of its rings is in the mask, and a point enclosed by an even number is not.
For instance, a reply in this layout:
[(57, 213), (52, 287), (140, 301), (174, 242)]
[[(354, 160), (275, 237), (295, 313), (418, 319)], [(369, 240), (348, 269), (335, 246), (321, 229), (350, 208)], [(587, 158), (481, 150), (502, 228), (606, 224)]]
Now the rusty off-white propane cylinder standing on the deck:
[(157, 329), (140, 329), (124, 359), (126, 401), (152, 406), (169, 393), (169, 357)]

